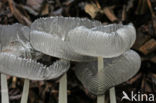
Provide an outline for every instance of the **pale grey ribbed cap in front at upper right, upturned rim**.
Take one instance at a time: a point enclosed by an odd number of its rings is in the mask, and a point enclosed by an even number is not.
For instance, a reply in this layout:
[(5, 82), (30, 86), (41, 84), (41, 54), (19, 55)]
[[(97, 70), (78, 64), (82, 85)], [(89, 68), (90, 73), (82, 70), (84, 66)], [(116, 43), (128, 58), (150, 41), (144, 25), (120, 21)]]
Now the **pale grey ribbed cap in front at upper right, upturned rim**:
[(86, 56), (111, 58), (127, 51), (136, 39), (132, 24), (111, 24), (92, 29), (80, 26), (71, 30), (68, 41), (71, 48)]

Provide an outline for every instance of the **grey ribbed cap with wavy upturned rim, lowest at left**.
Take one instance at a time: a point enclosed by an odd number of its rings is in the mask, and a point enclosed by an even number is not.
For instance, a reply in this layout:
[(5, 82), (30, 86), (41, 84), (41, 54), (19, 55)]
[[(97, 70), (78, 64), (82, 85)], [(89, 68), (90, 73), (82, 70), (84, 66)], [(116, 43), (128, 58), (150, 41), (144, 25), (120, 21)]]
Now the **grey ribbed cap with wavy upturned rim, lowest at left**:
[(30, 80), (49, 80), (67, 72), (70, 62), (58, 60), (49, 67), (31, 59), (17, 57), (9, 53), (0, 53), (0, 72)]

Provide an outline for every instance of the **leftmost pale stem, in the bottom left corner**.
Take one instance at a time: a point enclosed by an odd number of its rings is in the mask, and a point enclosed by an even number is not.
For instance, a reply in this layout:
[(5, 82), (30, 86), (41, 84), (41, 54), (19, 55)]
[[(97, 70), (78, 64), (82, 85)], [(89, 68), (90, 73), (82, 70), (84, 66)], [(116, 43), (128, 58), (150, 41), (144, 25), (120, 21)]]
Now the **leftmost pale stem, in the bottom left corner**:
[(7, 77), (1, 74), (1, 103), (9, 103)]

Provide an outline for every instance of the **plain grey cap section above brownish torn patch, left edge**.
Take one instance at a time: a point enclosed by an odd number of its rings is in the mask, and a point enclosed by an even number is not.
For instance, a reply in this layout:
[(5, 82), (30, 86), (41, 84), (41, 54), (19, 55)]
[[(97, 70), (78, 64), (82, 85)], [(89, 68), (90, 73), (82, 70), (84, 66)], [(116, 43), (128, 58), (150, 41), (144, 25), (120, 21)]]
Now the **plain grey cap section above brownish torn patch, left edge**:
[(30, 30), (27, 26), (22, 24), (0, 25), (0, 44), (3, 47), (10, 44), (12, 41), (22, 39), (23, 42), (27, 41)]

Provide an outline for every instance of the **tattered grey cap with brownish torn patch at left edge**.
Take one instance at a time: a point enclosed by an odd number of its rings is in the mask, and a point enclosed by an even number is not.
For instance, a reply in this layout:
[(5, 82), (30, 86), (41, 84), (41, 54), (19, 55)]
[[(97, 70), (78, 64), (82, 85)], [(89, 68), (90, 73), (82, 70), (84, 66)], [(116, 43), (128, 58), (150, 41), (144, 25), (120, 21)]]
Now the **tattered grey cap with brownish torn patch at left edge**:
[(29, 40), (30, 29), (22, 24), (0, 25), (1, 52), (13, 53), (16, 56), (31, 52)]

